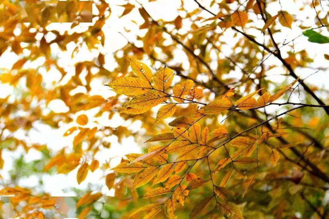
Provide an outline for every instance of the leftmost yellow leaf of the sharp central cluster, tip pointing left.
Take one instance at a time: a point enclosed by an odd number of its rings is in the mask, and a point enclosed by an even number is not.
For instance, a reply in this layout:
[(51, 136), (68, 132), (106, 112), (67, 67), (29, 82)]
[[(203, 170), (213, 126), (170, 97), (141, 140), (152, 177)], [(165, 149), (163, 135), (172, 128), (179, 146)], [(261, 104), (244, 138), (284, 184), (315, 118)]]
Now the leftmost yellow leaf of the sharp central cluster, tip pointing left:
[(127, 96), (143, 94), (152, 88), (147, 81), (134, 77), (119, 78), (107, 86), (112, 87), (116, 93)]

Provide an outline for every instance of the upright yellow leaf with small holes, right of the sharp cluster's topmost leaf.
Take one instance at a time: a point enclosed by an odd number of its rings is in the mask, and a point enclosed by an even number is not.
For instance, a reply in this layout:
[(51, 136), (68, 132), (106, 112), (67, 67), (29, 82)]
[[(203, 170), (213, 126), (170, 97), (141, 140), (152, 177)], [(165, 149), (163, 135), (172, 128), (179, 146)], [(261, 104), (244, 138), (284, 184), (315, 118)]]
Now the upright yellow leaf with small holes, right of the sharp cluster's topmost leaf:
[(154, 88), (164, 91), (171, 85), (172, 79), (174, 78), (174, 72), (170, 68), (164, 67), (155, 73), (153, 77)]

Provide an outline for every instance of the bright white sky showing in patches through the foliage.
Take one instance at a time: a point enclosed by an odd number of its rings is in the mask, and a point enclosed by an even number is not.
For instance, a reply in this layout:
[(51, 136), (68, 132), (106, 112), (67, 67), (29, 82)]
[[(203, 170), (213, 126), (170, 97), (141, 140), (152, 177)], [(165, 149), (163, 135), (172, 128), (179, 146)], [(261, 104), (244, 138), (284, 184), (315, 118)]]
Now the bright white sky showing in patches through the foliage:
[[(107, 20), (106, 24), (103, 27), (103, 31), (106, 35), (106, 41), (105, 41), (105, 47), (104, 49), (101, 49), (100, 51), (102, 53), (106, 53), (106, 65), (105, 67), (108, 68), (110, 71), (113, 70), (116, 67), (116, 63), (114, 62), (114, 58), (112, 53), (120, 48), (122, 48), (127, 41), (118, 33), (118, 32), (122, 32), (130, 41), (135, 42), (136, 45), (141, 46), (141, 42), (136, 41), (136, 36), (137, 35), (143, 35), (145, 34), (145, 30), (144, 31), (139, 31), (138, 27), (136, 26), (136, 24), (134, 24), (131, 20), (134, 19), (135, 21), (137, 21), (139, 24), (143, 23), (142, 18), (139, 16), (139, 12), (138, 10), (133, 10), (133, 12), (131, 12), (129, 15), (124, 16), (122, 18), (118, 18), (119, 15), (121, 15), (121, 13), (123, 12), (123, 8), (118, 6), (118, 5), (123, 5), (126, 4), (127, 1), (125, 0), (110, 0), (110, 7), (111, 7), (111, 11), (112, 14), (110, 16), (110, 18)], [(138, 5), (134, 0), (130, 1), (132, 4), (136, 4)], [(139, 1), (141, 4), (143, 4), (143, 6), (146, 8), (146, 10), (151, 14), (151, 16), (153, 16), (155, 19), (159, 19), (162, 18), (164, 20), (173, 20), (176, 18), (176, 16), (178, 15), (178, 11), (176, 10), (178, 7), (180, 7), (180, 3), (181, 1), (179, 0), (158, 0), (155, 2), (151, 2), (148, 3), (148, 0), (140, 0)], [(193, 11), (197, 5), (194, 3), (193, 0), (189, 0), (189, 1), (185, 1), (185, 8), (188, 11)], [(209, 2), (210, 1), (200, 1), (205, 7), (207, 7), (209, 9)], [(279, 34), (275, 34), (274, 37), (278, 42), (282, 42), (283, 39), (287, 38), (287, 40), (291, 40), (294, 37), (298, 36), (301, 34), (301, 30), (297, 27), (297, 24), (299, 24), (300, 21), (298, 21), (299, 19), (305, 20), (305, 17), (310, 16), (312, 17), (312, 20), (310, 20), (309, 22), (305, 22), (303, 23), (304, 26), (310, 25), (312, 23), (314, 23), (313, 21), (313, 17), (314, 17), (314, 10), (311, 9), (310, 7), (306, 7), (305, 10), (300, 11), (299, 9), (301, 8), (303, 2), (305, 2), (305, 0), (303, 1), (293, 1), (293, 0), (285, 0), (285, 1), (281, 1), (282, 2), (282, 7), (283, 10), (287, 10), (289, 11), (291, 14), (295, 15), (295, 22), (292, 25), (292, 30), (289, 28), (283, 28), (283, 33), (279, 33)], [(308, 1), (311, 2), (311, 1)], [(324, 4), (323, 4), (324, 5)], [(269, 9), (269, 13), (271, 15), (275, 15), (279, 10), (280, 10), (280, 6), (277, 3), (273, 3), (273, 4), (269, 4), (268, 6)], [(213, 12), (216, 12), (215, 7), (211, 9)], [(324, 8), (323, 15), (328, 11), (328, 7)], [(181, 15), (184, 15), (184, 12), (179, 12)], [(211, 17), (211, 15), (207, 12), (204, 12), (204, 17)], [(249, 14), (251, 19), (255, 18), (255, 14), (250, 13)], [(136, 18), (137, 17), (137, 18)], [(185, 21), (188, 22), (188, 21)], [(77, 28), (75, 29), (80, 29), (79, 31), (84, 31), (83, 26), (86, 26), (89, 24), (80, 24)], [(247, 24), (246, 27), (248, 25), (255, 25), (254, 23), (252, 24)], [(54, 30), (60, 30), (61, 32), (63, 32), (64, 30), (68, 30), (69, 29), (70, 24), (59, 24), (59, 23), (53, 23), (51, 25), (48, 26), (49, 30), (50, 29), (54, 29)], [(262, 21), (257, 23), (258, 27), (263, 27), (264, 23)], [(124, 28), (128, 30), (131, 30), (129, 33), (125, 33)], [(245, 28), (247, 29), (247, 28)], [(220, 30), (218, 30), (220, 31)], [(187, 32), (187, 29), (183, 28), (182, 30), (180, 30), (180, 34), (184, 34)], [(224, 53), (226, 55), (229, 55), (232, 51), (230, 49), (230, 47), (232, 45), (235, 44), (236, 39), (232, 39), (233, 36), (233, 31), (232, 30), (226, 30), (225, 34), (223, 37), (221, 37), (221, 41), (225, 41), (228, 46), (225, 46), (225, 50)], [(257, 40), (262, 42), (263, 38), (262, 35), (260, 34), (259, 31), (250, 31), (247, 32), (250, 35), (254, 35), (257, 36)], [(328, 32), (323, 32), (324, 35), (329, 36)], [(280, 36), (282, 38), (280, 38)], [(316, 44), (316, 43), (310, 43), (307, 41), (307, 37), (299, 37), (297, 40), (295, 40), (294, 43), (295, 46), (295, 51), (300, 51), (302, 49), (306, 49), (307, 52), (309, 53), (309, 56), (314, 59), (314, 63), (312, 63), (313, 67), (327, 67), (329, 66), (329, 61), (325, 60), (323, 58), (323, 54), (325, 53), (329, 53), (329, 46), (328, 44)], [(52, 45), (52, 49), (53, 51), (57, 51), (57, 45), (53, 44)], [(68, 45), (68, 51), (67, 52), (59, 52), (58, 54), (56, 54), (56, 52), (53, 52), (52, 55), (56, 56), (59, 55), (59, 59), (60, 59), (60, 65), (65, 67), (65, 70), (67, 70), (69, 75), (73, 75), (74, 74), (74, 67), (72, 66), (72, 63), (75, 63), (77, 61), (86, 61), (86, 60), (92, 60), (95, 57), (98, 56), (98, 51), (93, 51), (93, 52), (89, 52), (87, 50), (86, 47), (84, 47), (82, 50), (80, 50), (80, 52), (74, 56), (73, 59), (71, 59), (71, 53), (74, 49), (74, 45), (69, 44)], [(222, 47), (224, 48), (224, 47)], [(174, 62), (180, 63), (180, 62), (184, 62), (184, 60), (186, 60), (186, 57), (184, 57), (182, 55), (182, 52), (180, 51), (181, 48), (177, 48), (177, 51), (175, 51), (175, 54), (177, 54), (177, 56), (174, 59)], [(282, 48), (282, 52), (283, 55), (285, 55), (285, 52), (287, 52), (288, 50), (290, 50), (290, 48), (288, 46), (285, 46)], [(120, 52), (120, 51), (119, 51)], [(0, 68), (7, 68), (10, 69), (11, 66), (13, 65), (14, 62), (16, 62), (18, 59), (20, 59), (21, 57), (16, 56), (14, 53), (10, 52), (9, 50), (7, 50), (1, 57), (0, 57)], [(34, 61), (33, 63), (26, 63), (24, 65), (25, 68), (27, 67), (35, 67), (38, 66), (40, 64), (42, 64), (44, 61), (43, 58), (40, 58), (36, 61)], [(146, 61), (147, 63), (147, 61)], [(277, 60), (275, 60), (274, 58), (269, 58), (266, 62), (266, 64), (269, 63), (278, 63)], [(159, 67), (159, 66), (157, 66)], [(41, 69), (42, 71), (42, 69)], [(311, 73), (315, 72), (315, 70), (313, 69), (296, 69), (296, 73), (297, 75), (300, 75), (301, 78), (305, 78), (308, 75), (310, 75)], [(58, 80), (58, 73), (50, 70), (50, 72), (42, 72), (44, 74), (44, 77), (47, 80), (47, 86), (51, 87), (52, 82)], [(283, 72), (280, 72), (278, 70), (278, 68), (275, 68), (274, 71), (271, 72), (271, 74), (276, 75), (276, 74), (281, 74)], [(310, 78), (308, 78), (306, 80), (307, 84), (314, 84), (314, 85), (318, 85), (318, 86), (323, 86), (326, 89), (329, 89), (329, 83), (327, 83), (329, 81), (329, 71), (320, 71), (317, 74), (311, 76)], [(233, 73), (233, 74), (238, 74), (238, 73)], [(233, 75), (234, 77), (234, 75)], [(279, 76), (273, 76), (271, 77), (271, 80), (273, 81), (281, 81), (283, 80), (283, 77), (279, 77)], [(292, 80), (292, 79), (291, 79)], [(110, 91), (107, 87), (102, 85), (102, 81), (100, 80), (95, 80), (91, 83), (91, 93), (92, 94), (99, 94), (102, 95), (104, 98), (108, 98), (110, 96), (113, 96), (114, 93), (112, 91)], [(1, 89), (1, 93), (0, 93), (0, 98), (6, 97), (8, 95), (8, 93), (10, 93), (12, 95), (12, 97), (14, 96), (13, 93), (13, 88), (10, 87), (9, 85), (3, 85), (0, 84), (0, 89)], [(77, 90), (75, 90), (74, 93), (76, 92), (84, 92), (84, 88), (79, 88)], [(321, 97), (322, 99), (325, 99), (326, 97)], [(53, 110), (55, 112), (61, 112), (61, 111), (66, 111), (66, 106), (64, 105), (63, 101), (61, 100), (57, 100), (57, 101), (52, 101), (48, 106), (47, 106), (48, 110)], [(82, 114), (84, 112), (80, 112), (77, 113), (77, 115), (75, 115), (76, 117), (79, 114)], [(90, 127), (94, 127), (96, 124), (93, 122), (94, 118), (92, 118), (92, 115), (95, 114), (95, 110), (89, 110), (88, 111), (88, 115), (89, 116), (89, 124), (88, 126)], [(75, 118), (76, 118), (75, 117)], [(121, 125), (124, 121), (117, 115), (115, 115), (113, 117), (113, 119), (111, 121), (107, 120), (107, 114), (105, 114), (102, 118), (97, 118), (97, 120), (101, 123), (101, 124), (107, 124), (107, 125), (111, 125), (112, 127), (116, 127), (118, 125)], [(105, 122), (104, 122), (105, 121)], [(74, 126), (75, 122), (73, 122), (72, 124), (63, 124), (59, 129), (54, 130), (51, 129), (50, 127), (46, 126), (46, 125), (42, 125), (42, 124), (38, 124), (36, 125), (36, 130), (31, 130), (31, 132), (29, 133), (29, 137), (31, 139), (32, 142), (38, 142), (40, 144), (47, 144), (48, 147), (54, 151), (59, 151), (62, 147), (64, 146), (69, 146), (72, 147), (72, 141), (73, 141), (73, 137), (74, 135), (68, 136), (68, 137), (63, 137), (63, 133), (71, 126)], [(128, 123), (125, 123), (125, 125), (129, 125)], [(99, 125), (98, 125), (99, 126)], [(140, 129), (140, 123), (136, 122), (135, 124), (129, 126), (130, 129), (132, 129), (133, 131), (137, 132)], [(141, 131), (142, 132), (142, 131)], [(23, 132), (20, 130), (17, 133), (15, 133), (15, 135), (17, 137), (24, 137), (23, 136)], [(109, 158), (114, 158), (111, 161), (111, 164), (114, 166), (115, 164), (117, 164), (120, 161), (121, 156), (128, 154), (128, 153), (138, 153), (140, 152), (140, 148), (138, 147), (137, 143), (134, 141), (134, 139), (132, 137), (126, 138), (122, 141), (122, 144), (119, 144), (117, 142), (116, 137), (109, 137), (109, 141), (112, 143), (111, 149), (105, 149), (102, 150), (101, 153), (98, 153), (96, 155), (96, 158), (100, 160), (100, 162), (105, 162), (105, 160), (109, 160)], [(143, 145), (142, 145), (143, 146)], [(145, 145), (144, 145), (145, 146)], [(24, 154), (23, 150), (20, 148), (19, 150), (15, 151), (15, 153), (12, 152), (8, 152), (7, 150), (3, 151), (3, 157), (5, 158), (5, 166), (3, 168), (3, 170), (0, 171), (0, 174), (4, 177), (4, 181), (8, 182), (9, 180), (9, 174), (8, 174), (8, 170), (10, 170), (12, 168), (12, 162), (14, 158), (18, 158), (20, 157), (21, 154)], [(40, 158), (40, 153), (36, 150), (30, 150), (29, 153), (25, 156), (25, 159), (27, 161), (31, 161), (34, 159), (38, 159)], [(64, 191), (64, 189), (70, 188), (70, 187), (76, 187), (76, 188), (87, 188), (88, 183), (93, 183), (95, 184), (96, 188), (100, 188), (100, 190), (107, 195), (111, 195), (113, 194), (113, 191), (108, 191), (107, 187), (104, 186), (104, 182), (105, 179), (102, 178), (102, 176), (104, 176), (105, 174), (101, 171), (101, 170), (96, 170), (94, 173), (90, 173), (88, 174), (87, 179), (81, 183), (80, 185), (77, 184), (76, 181), (76, 173), (77, 173), (77, 169), (72, 171), (71, 173), (64, 175), (64, 174), (58, 174), (58, 175), (54, 175), (54, 176), (49, 176), (47, 174), (42, 174), (42, 176), (30, 176), (27, 179), (21, 179), (19, 181), (19, 185), (20, 186), (33, 186), (36, 185), (38, 180), (40, 178), (42, 178), (42, 180), (44, 181), (44, 188), (39, 188), (39, 189), (43, 189), (45, 192), (50, 192), (52, 196), (74, 196), (75, 194), (73, 192), (67, 192)]]

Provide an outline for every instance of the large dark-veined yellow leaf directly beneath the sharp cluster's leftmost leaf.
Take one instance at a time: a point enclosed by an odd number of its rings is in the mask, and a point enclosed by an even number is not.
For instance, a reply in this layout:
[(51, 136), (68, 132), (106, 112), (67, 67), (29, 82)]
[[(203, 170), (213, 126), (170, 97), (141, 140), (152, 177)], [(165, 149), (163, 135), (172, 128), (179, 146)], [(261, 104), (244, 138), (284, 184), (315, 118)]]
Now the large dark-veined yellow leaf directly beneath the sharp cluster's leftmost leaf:
[(157, 90), (148, 90), (128, 101), (124, 108), (151, 109), (166, 100), (165, 94)]

